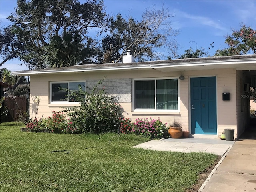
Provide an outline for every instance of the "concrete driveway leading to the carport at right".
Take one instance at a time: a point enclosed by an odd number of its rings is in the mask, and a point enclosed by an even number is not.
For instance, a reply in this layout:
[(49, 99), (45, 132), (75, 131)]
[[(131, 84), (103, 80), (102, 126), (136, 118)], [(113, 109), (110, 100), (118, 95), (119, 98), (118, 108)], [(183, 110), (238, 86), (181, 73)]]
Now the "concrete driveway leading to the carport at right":
[[(203, 188), (202, 188), (203, 187)], [(228, 152), (202, 192), (256, 192), (256, 128), (246, 131)]]

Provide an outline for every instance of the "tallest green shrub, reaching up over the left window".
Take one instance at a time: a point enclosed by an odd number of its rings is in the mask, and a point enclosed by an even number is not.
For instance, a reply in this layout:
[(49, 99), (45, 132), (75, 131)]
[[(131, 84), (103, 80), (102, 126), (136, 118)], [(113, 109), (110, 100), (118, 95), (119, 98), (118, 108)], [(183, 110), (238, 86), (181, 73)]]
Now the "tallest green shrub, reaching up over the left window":
[(118, 131), (122, 117), (121, 106), (114, 102), (112, 96), (105, 94), (104, 87), (99, 89), (103, 80), (100, 80), (91, 92), (86, 92), (80, 87), (79, 90), (70, 93), (72, 98), (80, 101), (80, 106), (65, 108), (64, 112), (70, 117), (66, 132)]

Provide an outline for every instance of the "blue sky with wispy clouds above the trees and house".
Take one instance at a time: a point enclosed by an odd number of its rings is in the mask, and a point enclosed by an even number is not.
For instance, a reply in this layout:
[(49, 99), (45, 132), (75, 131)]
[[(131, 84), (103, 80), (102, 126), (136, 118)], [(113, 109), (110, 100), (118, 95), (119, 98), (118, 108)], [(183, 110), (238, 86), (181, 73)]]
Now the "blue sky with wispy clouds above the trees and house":
[[(138, 20), (146, 8), (168, 8), (174, 13), (170, 21), (172, 28), (179, 30), (176, 40), (180, 55), (190, 47), (193, 50), (208, 48), (212, 42), (214, 48), (210, 49), (210, 54), (214, 55), (216, 50), (227, 47), (225, 36), (232, 34), (232, 29), (239, 30), (241, 24), (245, 24), (256, 30), (256, 0), (104, 0), (104, 5), (110, 15), (120, 13), (125, 18), (132, 16)], [(0, 0), (1, 26), (10, 24), (6, 17), (16, 6), (16, 0)], [(28, 70), (20, 64), (19, 60), (9, 60), (2, 68)]]

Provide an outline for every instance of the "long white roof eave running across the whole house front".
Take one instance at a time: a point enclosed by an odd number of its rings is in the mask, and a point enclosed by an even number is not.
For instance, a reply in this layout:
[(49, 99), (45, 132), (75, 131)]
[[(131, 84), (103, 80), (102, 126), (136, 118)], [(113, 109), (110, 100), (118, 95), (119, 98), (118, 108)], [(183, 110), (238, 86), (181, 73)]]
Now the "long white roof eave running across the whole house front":
[[(178, 60), (161, 60), (127, 64), (101, 64), (98, 66), (73, 66), (67, 68), (50, 68), (31, 71), (16, 71), (13, 75), (30, 76), (36, 74), (56, 74), (56, 73), (74, 73), (74, 72), (100, 72), (100, 71), (123, 71), (123, 70), (140, 70), (140, 69), (155, 69), (160, 71), (177, 71), (177, 70), (206, 70), (206, 69), (221, 69), (235, 68), (243, 70), (241, 64), (247, 65), (250, 70), (256, 70), (256, 55), (244, 56), (224, 56), (224, 57), (209, 57), (209, 58), (192, 58)], [(255, 67), (254, 67), (255, 66)], [(194, 68), (195, 67), (195, 68)], [(246, 70), (246, 69), (245, 69)]]

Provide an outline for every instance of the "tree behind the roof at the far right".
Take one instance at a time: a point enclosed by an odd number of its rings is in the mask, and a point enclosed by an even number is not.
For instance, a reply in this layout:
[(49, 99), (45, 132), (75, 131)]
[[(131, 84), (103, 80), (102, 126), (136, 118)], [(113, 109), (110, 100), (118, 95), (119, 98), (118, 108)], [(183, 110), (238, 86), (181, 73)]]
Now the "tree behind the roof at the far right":
[(256, 54), (255, 30), (242, 24), (240, 30), (232, 31), (232, 36), (227, 35), (225, 40), (229, 48), (217, 50), (214, 56)]

